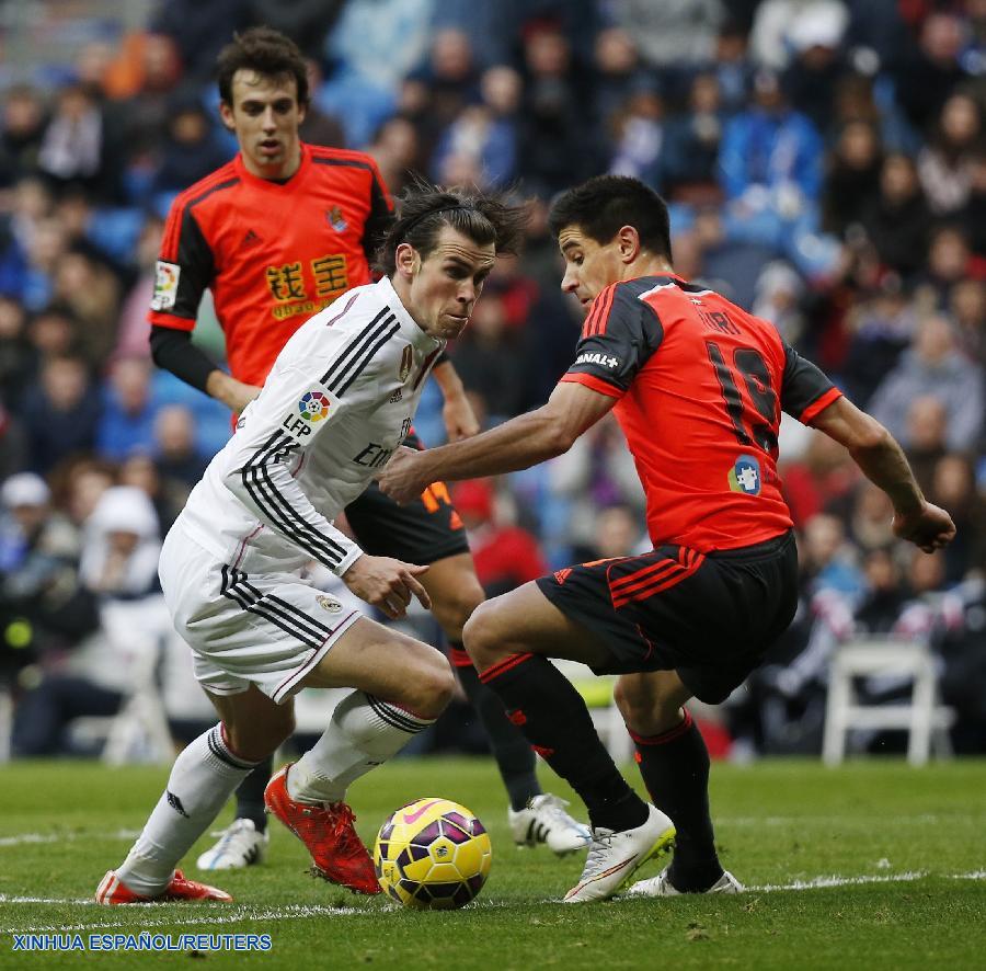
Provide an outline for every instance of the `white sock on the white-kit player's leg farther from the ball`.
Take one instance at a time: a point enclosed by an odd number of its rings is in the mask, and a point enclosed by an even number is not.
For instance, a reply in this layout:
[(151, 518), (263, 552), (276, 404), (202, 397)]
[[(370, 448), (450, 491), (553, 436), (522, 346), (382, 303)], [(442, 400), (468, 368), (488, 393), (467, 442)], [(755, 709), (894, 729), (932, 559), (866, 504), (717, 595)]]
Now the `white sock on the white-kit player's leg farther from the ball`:
[(199, 735), (174, 761), (168, 788), (116, 870), (119, 879), (142, 896), (161, 893), (174, 876), (175, 864), (211, 825), (254, 765), (229, 751), (220, 726)]

